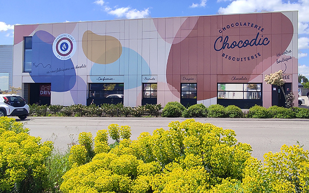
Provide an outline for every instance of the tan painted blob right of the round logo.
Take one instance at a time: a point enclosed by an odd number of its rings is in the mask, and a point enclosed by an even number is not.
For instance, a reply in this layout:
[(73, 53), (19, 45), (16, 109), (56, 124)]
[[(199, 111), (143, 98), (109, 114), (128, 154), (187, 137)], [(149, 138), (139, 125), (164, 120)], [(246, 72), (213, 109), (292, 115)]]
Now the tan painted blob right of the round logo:
[(96, 64), (113, 63), (122, 53), (121, 43), (112, 36), (97, 35), (88, 30), (82, 41), (85, 56)]

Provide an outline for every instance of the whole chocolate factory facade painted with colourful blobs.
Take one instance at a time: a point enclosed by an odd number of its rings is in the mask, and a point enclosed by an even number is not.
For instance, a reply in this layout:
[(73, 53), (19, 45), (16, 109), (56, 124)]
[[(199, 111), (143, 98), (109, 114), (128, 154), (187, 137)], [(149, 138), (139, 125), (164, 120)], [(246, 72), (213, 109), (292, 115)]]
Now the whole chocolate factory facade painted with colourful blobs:
[(31, 104), (269, 107), (265, 74), (297, 96), (297, 57), (297, 11), (16, 25), (13, 86)]

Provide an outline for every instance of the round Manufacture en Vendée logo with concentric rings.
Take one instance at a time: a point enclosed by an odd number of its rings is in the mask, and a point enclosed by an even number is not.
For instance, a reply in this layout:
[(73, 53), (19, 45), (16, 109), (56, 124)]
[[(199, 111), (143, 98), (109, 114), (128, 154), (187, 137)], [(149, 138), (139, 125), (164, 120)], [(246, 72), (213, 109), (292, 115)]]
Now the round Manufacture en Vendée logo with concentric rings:
[(70, 34), (61, 34), (53, 42), (54, 55), (60, 60), (70, 59), (76, 51), (76, 42)]

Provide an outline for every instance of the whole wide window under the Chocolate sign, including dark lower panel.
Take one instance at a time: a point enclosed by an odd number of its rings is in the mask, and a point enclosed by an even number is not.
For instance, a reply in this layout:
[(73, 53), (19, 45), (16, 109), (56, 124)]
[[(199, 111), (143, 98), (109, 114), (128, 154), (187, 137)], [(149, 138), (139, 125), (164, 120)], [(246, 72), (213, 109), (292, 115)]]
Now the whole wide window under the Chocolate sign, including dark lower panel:
[(218, 84), (218, 104), (249, 108), (262, 105), (262, 84)]

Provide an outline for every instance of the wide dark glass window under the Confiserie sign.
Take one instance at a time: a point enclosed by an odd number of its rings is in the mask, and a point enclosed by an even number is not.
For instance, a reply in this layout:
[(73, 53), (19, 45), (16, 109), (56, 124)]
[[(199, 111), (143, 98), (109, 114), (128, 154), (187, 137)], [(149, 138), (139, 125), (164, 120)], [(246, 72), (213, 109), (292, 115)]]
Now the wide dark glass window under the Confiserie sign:
[(123, 83), (89, 84), (89, 98), (123, 98)]

